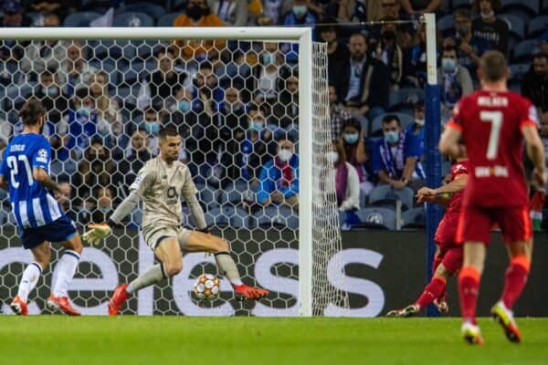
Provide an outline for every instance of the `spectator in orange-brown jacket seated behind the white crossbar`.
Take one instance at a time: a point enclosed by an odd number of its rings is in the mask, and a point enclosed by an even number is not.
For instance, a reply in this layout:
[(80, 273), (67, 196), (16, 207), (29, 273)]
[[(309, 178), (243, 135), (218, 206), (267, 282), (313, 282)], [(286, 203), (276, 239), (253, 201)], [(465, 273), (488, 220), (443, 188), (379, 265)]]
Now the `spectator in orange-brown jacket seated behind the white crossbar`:
[[(205, 0), (189, 0), (186, 3), (185, 14), (177, 16), (174, 26), (224, 26), (223, 21), (205, 4)], [(225, 47), (222, 39), (213, 40), (175, 40), (180, 49), (180, 57), (185, 60), (194, 59), (198, 62), (205, 59), (216, 60), (219, 50)]]

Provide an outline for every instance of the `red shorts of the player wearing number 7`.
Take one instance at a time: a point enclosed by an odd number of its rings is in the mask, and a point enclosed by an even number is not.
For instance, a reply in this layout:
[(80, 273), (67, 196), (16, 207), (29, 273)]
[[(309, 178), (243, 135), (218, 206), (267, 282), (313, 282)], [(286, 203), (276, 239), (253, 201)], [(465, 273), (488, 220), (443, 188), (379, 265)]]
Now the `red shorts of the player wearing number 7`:
[(528, 207), (509, 206), (498, 208), (468, 205), (462, 209), (458, 219), (457, 242), (490, 243), (490, 231), (494, 224), (501, 227), (507, 243), (529, 241), (532, 224)]

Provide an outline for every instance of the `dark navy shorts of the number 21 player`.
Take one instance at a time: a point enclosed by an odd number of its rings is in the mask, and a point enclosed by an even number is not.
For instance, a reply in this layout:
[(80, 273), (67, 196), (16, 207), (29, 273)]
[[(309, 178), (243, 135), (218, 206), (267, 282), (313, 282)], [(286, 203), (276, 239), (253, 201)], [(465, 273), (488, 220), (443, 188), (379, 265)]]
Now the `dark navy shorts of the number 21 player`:
[(25, 228), (21, 235), (21, 242), (25, 249), (30, 250), (37, 245), (47, 242), (65, 242), (74, 237), (78, 231), (76, 224), (63, 214), (50, 224), (34, 228)]

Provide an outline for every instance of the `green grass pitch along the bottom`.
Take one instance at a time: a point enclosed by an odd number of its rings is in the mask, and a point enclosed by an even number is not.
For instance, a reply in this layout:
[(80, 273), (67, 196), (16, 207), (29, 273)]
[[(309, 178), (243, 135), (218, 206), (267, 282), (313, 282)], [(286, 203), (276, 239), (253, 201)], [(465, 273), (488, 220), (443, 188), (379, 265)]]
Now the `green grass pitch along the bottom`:
[(546, 364), (548, 318), (519, 318), (523, 343), (480, 319), (0, 317), (1, 364)]

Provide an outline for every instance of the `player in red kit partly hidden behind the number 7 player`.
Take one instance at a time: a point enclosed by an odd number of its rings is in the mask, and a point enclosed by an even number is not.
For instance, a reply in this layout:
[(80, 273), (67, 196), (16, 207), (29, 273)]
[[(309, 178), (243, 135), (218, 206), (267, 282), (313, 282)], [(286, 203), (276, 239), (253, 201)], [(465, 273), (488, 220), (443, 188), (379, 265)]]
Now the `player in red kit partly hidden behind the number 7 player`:
[[(456, 241), (458, 217), (462, 205), (463, 191), (469, 178), (469, 162), (459, 159), (451, 167), (449, 183), (437, 188), (422, 188), (417, 192), (418, 203), (438, 203), (447, 208), (443, 219), (437, 225), (434, 240), (437, 245), (437, 254), (434, 257), (432, 280), (425, 287), (416, 302), (403, 309), (395, 309), (386, 313), (386, 317), (411, 317), (419, 313), (422, 308), (434, 302), (440, 312), (448, 311), (445, 299), (446, 283), (450, 276), (454, 276), (462, 266), (462, 245)], [(445, 197), (446, 194), (452, 194)]]

